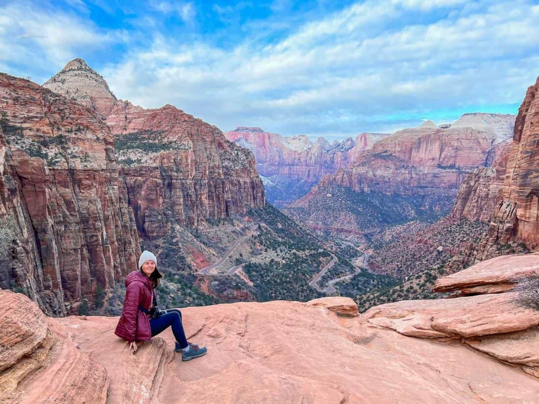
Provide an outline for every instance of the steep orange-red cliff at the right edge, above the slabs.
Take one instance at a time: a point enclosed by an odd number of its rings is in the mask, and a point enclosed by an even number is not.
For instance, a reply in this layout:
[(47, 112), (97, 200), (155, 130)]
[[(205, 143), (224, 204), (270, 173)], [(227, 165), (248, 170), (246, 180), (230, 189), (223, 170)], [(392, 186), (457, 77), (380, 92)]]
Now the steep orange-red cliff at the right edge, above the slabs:
[(496, 206), (482, 259), (496, 243), (521, 241), (539, 248), (539, 78), (530, 86), (516, 117), (503, 200)]

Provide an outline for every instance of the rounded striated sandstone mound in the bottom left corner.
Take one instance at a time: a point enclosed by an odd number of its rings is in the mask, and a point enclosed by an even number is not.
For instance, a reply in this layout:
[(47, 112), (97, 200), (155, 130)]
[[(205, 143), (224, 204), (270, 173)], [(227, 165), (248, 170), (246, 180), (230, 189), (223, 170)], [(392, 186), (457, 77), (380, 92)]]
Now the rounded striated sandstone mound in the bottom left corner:
[(24, 295), (0, 290), (0, 401), (105, 403), (107, 371)]

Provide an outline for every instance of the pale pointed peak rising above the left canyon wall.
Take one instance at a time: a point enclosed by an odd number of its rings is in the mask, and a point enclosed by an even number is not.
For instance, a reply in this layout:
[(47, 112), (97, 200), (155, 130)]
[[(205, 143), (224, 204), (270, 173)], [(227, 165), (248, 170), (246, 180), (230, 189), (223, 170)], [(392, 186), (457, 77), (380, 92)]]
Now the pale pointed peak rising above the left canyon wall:
[(80, 58), (67, 62), (61, 71), (43, 83), (43, 87), (77, 100), (103, 118), (116, 103), (105, 79)]

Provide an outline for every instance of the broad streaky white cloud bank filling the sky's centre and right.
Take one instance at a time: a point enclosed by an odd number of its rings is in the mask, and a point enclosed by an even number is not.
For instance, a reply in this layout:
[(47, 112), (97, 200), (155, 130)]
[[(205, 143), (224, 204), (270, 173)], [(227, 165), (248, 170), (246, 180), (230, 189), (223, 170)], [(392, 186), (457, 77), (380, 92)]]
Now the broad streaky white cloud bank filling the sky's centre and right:
[[(421, 110), (520, 102), (539, 74), (535, 8), (507, 2), (399, 25), (405, 8), (455, 3), (368, 1), (278, 43), (230, 51), (156, 37), (103, 74), (137, 104), (171, 103), (223, 130), (253, 125), (286, 135), (353, 135), (398, 127), (395, 116)], [(382, 24), (388, 29), (371, 30)]]

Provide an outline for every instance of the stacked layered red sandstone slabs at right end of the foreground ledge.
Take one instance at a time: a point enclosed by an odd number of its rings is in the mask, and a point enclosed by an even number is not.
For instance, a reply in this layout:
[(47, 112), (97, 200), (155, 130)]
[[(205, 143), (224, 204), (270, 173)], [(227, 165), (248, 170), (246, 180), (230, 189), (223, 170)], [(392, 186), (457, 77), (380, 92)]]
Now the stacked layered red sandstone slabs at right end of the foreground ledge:
[[(539, 361), (531, 346), (539, 341), (539, 311), (517, 304), (515, 277), (539, 274), (539, 254), (497, 257), (459, 273), (439, 278), (436, 291), (476, 289), (476, 296), (426, 301), (400, 301), (369, 309), (371, 324), (403, 335), (459, 339), (502, 362), (518, 365), (539, 377)], [(488, 288), (492, 288), (488, 290)], [(468, 291), (467, 291), (468, 290)], [(492, 294), (490, 291), (494, 291)], [(488, 400), (487, 400), (488, 402)]]

